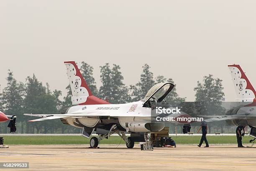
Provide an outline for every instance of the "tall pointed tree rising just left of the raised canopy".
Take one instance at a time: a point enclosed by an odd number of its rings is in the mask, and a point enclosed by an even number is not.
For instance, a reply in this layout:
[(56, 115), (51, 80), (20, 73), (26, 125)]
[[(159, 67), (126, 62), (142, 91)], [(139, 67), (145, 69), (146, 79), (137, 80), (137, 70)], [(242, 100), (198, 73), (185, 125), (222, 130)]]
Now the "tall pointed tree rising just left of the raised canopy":
[(155, 84), (153, 73), (149, 71), (150, 66), (145, 64), (142, 68), (143, 72), (141, 73), (140, 81), (136, 83), (136, 85), (130, 85), (133, 101), (139, 101), (143, 99), (146, 96), (148, 90)]

